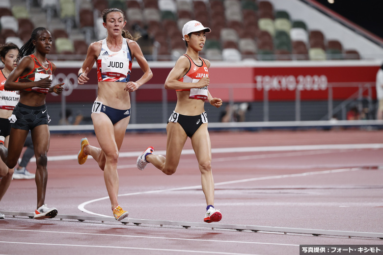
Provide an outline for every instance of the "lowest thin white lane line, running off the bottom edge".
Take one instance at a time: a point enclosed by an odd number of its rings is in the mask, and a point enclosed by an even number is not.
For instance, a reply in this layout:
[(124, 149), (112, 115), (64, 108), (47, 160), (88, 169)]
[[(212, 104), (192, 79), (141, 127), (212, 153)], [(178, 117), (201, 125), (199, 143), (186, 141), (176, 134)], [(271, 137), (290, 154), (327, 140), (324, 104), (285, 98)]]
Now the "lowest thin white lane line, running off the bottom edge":
[(192, 251), (192, 250), (176, 250), (176, 249), (159, 249), (159, 248), (139, 248), (139, 247), (122, 247), (122, 246), (106, 246), (106, 245), (79, 245), (79, 244), (48, 244), (48, 243), (28, 243), (28, 242), (4, 242), (8, 244), (28, 244), (28, 245), (47, 245), (47, 246), (66, 246), (66, 247), (86, 247), (86, 248), (107, 248), (107, 249), (125, 249), (125, 250), (144, 250), (144, 251), (163, 251), (177, 253), (200, 253), (200, 254), (222, 254), (222, 255), (254, 255), (249, 253), (225, 253), (212, 251)]

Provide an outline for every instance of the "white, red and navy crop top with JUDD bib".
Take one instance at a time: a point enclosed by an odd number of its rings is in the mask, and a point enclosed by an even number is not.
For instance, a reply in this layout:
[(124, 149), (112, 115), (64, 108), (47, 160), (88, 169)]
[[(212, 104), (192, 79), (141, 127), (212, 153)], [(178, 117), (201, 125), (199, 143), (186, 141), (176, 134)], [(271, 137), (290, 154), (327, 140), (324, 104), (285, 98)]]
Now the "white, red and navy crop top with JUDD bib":
[(107, 39), (104, 39), (97, 58), (97, 79), (98, 81), (128, 82), (132, 63), (132, 53), (125, 38), (121, 50), (117, 52), (110, 51)]

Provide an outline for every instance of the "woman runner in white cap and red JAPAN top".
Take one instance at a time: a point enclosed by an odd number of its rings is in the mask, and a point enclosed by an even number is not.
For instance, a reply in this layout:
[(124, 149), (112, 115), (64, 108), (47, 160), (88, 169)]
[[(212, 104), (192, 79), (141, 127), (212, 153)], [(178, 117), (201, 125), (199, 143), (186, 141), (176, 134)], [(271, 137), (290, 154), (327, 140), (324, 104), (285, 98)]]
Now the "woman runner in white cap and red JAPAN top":
[(181, 152), (188, 137), (197, 157), (201, 171), (202, 191), (206, 198), (204, 221), (218, 222), (222, 218), (219, 210), (214, 208), (214, 180), (212, 174), (212, 152), (208, 132), (208, 119), (204, 109), (205, 100), (217, 108), (222, 100), (213, 98), (207, 88), (210, 82), (210, 62), (200, 58), (198, 52), (205, 44), (205, 33), (211, 32), (198, 21), (189, 21), (182, 29), (187, 51), (180, 56), (165, 81), (165, 89), (174, 89), (177, 93), (177, 104), (167, 122), (166, 157), (153, 154), (154, 148), (148, 147), (137, 158), (137, 168), (143, 170), (152, 163), (166, 175), (176, 172)]

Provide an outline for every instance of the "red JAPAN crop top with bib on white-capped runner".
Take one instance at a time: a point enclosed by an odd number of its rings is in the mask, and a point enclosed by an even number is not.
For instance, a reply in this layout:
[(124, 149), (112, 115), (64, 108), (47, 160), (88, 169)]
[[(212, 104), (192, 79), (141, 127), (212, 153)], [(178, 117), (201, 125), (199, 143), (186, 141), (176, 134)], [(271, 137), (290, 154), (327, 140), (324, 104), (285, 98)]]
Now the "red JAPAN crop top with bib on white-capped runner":
[[(202, 58), (201, 58), (202, 65), (197, 66), (193, 62), (192, 58), (190, 58), (190, 56), (188, 56), (187, 54), (184, 54), (184, 56), (189, 58), (190, 69), (188, 70), (188, 72), (186, 72), (184, 77), (179, 79), (179, 81), (195, 83), (195, 82), (198, 82), (202, 77), (209, 77), (209, 71), (207, 69), (207, 65)], [(176, 89), (176, 91), (190, 91), (189, 98), (207, 100), (207, 95), (208, 95), (207, 86), (205, 86), (203, 88), (193, 88), (190, 90), (189, 89)]]

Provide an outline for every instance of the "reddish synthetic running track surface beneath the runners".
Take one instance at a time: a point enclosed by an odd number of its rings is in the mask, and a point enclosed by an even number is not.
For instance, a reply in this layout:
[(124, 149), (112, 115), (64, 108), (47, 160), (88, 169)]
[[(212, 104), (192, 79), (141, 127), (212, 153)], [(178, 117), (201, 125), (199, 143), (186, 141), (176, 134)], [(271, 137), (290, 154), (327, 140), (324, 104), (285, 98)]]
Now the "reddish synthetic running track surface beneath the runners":
[[(383, 232), (382, 131), (261, 131), (212, 132), (216, 183), (215, 205), (222, 224), (280, 228)], [(80, 140), (92, 134), (51, 136), (49, 157), (77, 155)], [(152, 165), (135, 168), (139, 152), (148, 146), (165, 150), (165, 134), (127, 133), (119, 159), (119, 203), (131, 218), (202, 222), (205, 200), (192, 154), (183, 154), (177, 172), (166, 176)], [(351, 145), (354, 147), (351, 148)], [(306, 145), (326, 148), (302, 150)], [(344, 145), (334, 149), (333, 145)], [(281, 146), (275, 151), (270, 146)], [(292, 146), (292, 147), (287, 147)], [(230, 148), (256, 147), (237, 153)], [(298, 147), (298, 149), (297, 149)], [(319, 149), (320, 148), (320, 149)], [(190, 141), (185, 150), (192, 149)], [(261, 150), (264, 149), (264, 150)], [(214, 151), (214, 150), (213, 150)], [(34, 163), (28, 170), (34, 172)], [(84, 202), (107, 196), (103, 172), (93, 159), (49, 160), (46, 203), (59, 214), (89, 215)], [(336, 170), (336, 171), (328, 171)], [(326, 172), (327, 171), (327, 172)], [(227, 183), (231, 181), (230, 183)], [(184, 188), (190, 187), (190, 188)], [(166, 190), (175, 188), (175, 190)], [(177, 189), (179, 188), (179, 189)], [(145, 193), (152, 191), (151, 193)], [(13, 180), (0, 211), (33, 212), (33, 180)], [(93, 213), (111, 216), (109, 199), (85, 205)], [(76, 220), (37, 221), (7, 216), (0, 220), (1, 254), (299, 254), (300, 244), (382, 245), (380, 239), (283, 235), (219, 229), (122, 225)]]

